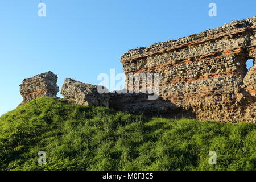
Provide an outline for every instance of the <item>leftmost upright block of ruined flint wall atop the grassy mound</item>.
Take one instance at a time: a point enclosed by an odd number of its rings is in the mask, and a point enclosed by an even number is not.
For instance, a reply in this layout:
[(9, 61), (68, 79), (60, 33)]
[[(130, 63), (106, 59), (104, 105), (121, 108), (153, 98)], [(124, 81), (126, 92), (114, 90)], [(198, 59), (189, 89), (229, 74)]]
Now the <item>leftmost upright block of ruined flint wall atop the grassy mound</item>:
[(20, 94), (23, 97), (20, 105), (38, 97), (55, 97), (58, 92), (57, 75), (52, 72), (46, 72), (24, 79), (20, 85)]

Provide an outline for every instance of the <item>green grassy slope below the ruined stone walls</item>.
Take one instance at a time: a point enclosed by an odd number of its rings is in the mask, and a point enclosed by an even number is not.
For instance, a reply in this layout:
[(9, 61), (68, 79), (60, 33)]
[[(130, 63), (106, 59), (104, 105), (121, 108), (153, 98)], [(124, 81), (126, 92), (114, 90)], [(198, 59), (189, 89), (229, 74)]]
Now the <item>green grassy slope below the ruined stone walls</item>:
[(256, 170), (255, 141), (255, 123), (145, 119), (44, 97), (0, 117), (0, 169)]

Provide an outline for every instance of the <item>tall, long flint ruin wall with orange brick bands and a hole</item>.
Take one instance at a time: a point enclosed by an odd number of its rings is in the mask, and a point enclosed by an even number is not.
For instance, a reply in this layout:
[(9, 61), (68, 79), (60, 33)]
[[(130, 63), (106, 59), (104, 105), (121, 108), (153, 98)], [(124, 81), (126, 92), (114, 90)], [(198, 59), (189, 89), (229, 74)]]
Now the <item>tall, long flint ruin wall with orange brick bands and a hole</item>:
[[(137, 105), (166, 102), (162, 110), (192, 111), (199, 120), (256, 122), (255, 31), (256, 16), (128, 51), (121, 56), (126, 75), (159, 73), (158, 100), (137, 100)], [(248, 59), (254, 59), (249, 71)], [(110, 106), (117, 109), (136, 105), (122, 98), (117, 102), (117, 94), (110, 97)]]

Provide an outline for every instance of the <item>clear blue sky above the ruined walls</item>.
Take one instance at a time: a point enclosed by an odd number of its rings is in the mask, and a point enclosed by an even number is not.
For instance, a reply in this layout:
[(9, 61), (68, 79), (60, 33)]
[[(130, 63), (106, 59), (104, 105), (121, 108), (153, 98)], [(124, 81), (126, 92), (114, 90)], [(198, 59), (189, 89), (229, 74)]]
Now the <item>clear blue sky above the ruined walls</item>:
[[(52, 71), (61, 88), (67, 77), (98, 84), (99, 73), (115, 68), (136, 47), (177, 39), (255, 16), (255, 0), (36, 0), (0, 2), (0, 115), (22, 101), (23, 78)], [(217, 5), (217, 17), (208, 5)], [(60, 94), (58, 94), (60, 96)]]

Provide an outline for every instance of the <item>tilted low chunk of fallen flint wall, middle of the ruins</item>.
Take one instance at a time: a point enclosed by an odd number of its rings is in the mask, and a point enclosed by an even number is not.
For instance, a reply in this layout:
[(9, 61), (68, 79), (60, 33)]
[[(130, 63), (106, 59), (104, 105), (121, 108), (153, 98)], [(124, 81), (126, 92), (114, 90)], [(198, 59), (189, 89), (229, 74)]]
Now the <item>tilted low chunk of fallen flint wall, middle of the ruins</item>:
[(84, 84), (71, 78), (64, 81), (61, 94), (77, 105), (109, 106), (109, 94), (98, 93), (97, 85)]

